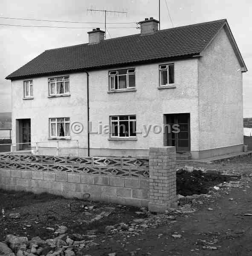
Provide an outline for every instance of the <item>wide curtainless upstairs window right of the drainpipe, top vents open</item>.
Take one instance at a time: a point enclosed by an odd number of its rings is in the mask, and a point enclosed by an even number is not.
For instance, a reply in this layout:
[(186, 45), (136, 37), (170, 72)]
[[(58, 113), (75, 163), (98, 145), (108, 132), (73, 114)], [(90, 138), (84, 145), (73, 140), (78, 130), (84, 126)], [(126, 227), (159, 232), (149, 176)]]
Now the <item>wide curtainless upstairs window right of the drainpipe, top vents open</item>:
[(135, 68), (113, 70), (109, 72), (110, 90), (122, 90), (136, 87)]

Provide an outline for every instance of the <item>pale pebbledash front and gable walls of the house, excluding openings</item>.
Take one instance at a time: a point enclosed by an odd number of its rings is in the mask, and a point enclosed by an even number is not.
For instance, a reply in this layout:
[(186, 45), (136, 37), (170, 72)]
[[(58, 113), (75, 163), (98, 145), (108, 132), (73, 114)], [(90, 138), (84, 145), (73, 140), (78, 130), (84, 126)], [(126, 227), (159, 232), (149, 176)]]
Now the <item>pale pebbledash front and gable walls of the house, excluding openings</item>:
[[(159, 65), (174, 63), (176, 88), (159, 87)], [(109, 70), (89, 71), (90, 121), (92, 131), (99, 122), (109, 125), (112, 115), (136, 115), (137, 131), (145, 125), (163, 125), (164, 115), (190, 113), (192, 158), (210, 157), (241, 151), (242, 73), (227, 35), (222, 29), (202, 57), (132, 65), (136, 68), (136, 90), (109, 92)], [(40, 143), (38, 154), (56, 154), (56, 142), (49, 140), (49, 118), (70, 117), (81, 122), (81, 134), (71, 132), (71, 140), (60, 140), (60, 147), (75, 146), (78, 154), (87, 155), (87, 76), (86, 73), (58, 74), (70, 76), (70, 96), (48, 97), (48, 78), (34, 77), (34, 99), (23, 99), (23, 80), (12, 81), (12, 131), (16, 143), (16, 119), (31, 119), (31, 144)], [(91, 156), (148, 156), (150, 147), (164, 145), (164, 134), (150, 132), (148, 137), (111, 140), (109, 134), (90, 134)], [(53, 148), (48, 148), (53, 147)], [(76, 154), (75, 149), (61, 154)]]

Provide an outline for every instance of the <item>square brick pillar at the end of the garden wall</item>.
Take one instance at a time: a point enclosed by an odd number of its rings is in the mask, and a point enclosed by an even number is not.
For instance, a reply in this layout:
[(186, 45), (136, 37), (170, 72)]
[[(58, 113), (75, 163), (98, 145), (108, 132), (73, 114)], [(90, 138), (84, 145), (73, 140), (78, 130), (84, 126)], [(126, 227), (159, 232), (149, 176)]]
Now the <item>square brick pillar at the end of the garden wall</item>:
[(150, 148), (149, 211), (165, 212), (176, 206), (175, 147)]

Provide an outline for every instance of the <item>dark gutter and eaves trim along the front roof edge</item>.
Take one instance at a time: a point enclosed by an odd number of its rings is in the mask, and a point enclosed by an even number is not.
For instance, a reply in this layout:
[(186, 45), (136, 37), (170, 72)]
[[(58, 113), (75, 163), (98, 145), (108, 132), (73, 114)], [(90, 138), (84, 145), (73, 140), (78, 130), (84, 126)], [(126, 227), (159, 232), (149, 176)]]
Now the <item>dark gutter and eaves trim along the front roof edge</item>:
[(160, 61), (174, 61), (174, 60), (179, 60), (179, 59), (186, 59), (186, 58), (195, 58), (195, 57), (200, 57), (199, 52), (195, 52), (190, 55), (182, 55), (174, 58), (159, 58), (159, 59), (154, 59), (154, 60), (145, 60), (145, 61), (131, 61), (131, 62), (125, 62), (125, 63), (119, 63), (119, 64), (111, 64), (111, 65), (104, 65), (104, 66), (99, 66), (99, 67), (87, 67), (87, 68), (78, 68), (78, 69), (69, 69), (69, 70), (60, 70), (60, 71), (52, 71), (52, 72), (45, 72), (45, 73), (38, 73), (38, 74), (32, 74), (32, 75), (23, 75), (23, 76), (14, 76), (14, 77), (9, 77), (6, 76), (6, 80), (19, 80), (19, 79), (27, 79), (27, 78), (34, 78), (34, 77), (41, 77), (41, 76), (52, 76), (52, 75), (58, 75), (58, 74), (64, 74), (64, 73), (77, 73), (77, 72), (82, 72), (84, 70), (87, 71), (92, 71), (92, 70), (102, 70), (102, 69), (107, 69), (107, 68), (117, 68), (118, 66), (128, 66), (128, 65), (140, 65), (140, 64), (151, 64), (151, 63), (157, 63)]

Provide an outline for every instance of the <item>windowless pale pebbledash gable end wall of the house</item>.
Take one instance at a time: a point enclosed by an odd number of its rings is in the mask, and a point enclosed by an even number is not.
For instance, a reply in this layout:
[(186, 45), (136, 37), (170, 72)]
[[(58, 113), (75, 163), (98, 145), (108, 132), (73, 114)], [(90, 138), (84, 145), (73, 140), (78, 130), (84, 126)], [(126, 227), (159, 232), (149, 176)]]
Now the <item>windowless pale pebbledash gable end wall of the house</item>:
[(224, 29), (199, 59), (199, 149), (243, 144), (240, 64)]

